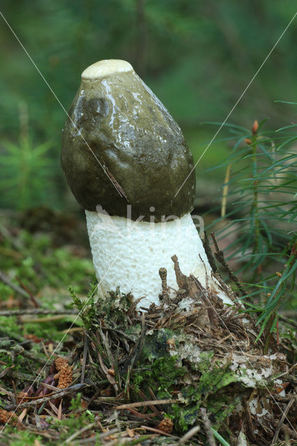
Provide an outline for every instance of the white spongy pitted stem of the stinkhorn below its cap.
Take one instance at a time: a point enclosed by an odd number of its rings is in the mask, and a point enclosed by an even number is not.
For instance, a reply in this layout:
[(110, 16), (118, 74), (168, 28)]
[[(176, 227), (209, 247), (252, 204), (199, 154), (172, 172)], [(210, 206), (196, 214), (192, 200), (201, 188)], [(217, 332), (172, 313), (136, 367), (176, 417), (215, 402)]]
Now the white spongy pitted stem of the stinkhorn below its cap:
[(231, 300), (211, 277), (211, 266), (190, 214), (168, 222), (133, 222), (125, 217), (86, 210), (93, 264), (99, 291), (105, 295), (120, 286), (135, 299), (145, 297), (140, 306), (159, 304), (162, 291), (159, 269), (167, 269), (167, 285), (178, 290), (171, 257), (176, 254), (181, 271), (195, 275), (225, 303)]

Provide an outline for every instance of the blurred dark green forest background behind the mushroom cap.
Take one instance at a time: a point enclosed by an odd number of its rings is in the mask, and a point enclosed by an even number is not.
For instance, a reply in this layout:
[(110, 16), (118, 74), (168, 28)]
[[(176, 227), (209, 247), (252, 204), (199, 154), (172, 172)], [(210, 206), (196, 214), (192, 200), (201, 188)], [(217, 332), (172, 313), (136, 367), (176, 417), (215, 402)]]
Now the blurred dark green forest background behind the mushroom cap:
[[(201, 123), (224, 121), (295, 10), (291, 0), (1, 1), (66, 110), (84, 68), (126, 59), (181, 125), (195, 160), (216, 130)], [(274, 101), (296, 98), (296, 38), (295, 21), (229, 121), (250, 128), (270, 118), (275, 129), (294, 119), (289, 106)], [(0, 39), (0, 207), (78, 210), (59, 160), (66, 114), (2, 17)], [(229, 150), (224, 142), (211, 145), (197, 167), (199, 181), (222, 183), (223, 173), (206, 169)]]

